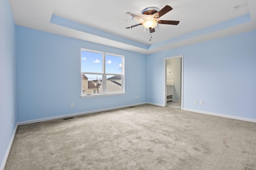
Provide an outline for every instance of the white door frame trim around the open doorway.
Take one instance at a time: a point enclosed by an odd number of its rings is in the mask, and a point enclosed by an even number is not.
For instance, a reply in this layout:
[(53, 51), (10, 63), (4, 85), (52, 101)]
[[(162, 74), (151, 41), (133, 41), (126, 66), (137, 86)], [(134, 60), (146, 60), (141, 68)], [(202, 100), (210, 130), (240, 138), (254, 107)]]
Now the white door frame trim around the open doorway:
[(165, 107), (167, 106), (167, 101), (166, 101), (167, 60), (175, 59), (175, 58), (181, 58), (181, 109), (183, 110), (183, 55), (164, 58), (164, 106)]

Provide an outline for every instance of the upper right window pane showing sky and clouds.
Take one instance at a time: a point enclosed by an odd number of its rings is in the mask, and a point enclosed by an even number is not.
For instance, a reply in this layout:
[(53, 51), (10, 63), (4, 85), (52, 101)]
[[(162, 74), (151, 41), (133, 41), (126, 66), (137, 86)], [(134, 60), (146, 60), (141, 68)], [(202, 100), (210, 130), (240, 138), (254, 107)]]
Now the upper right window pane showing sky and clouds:
[(106, 73), (122, 74), (122, 57), (106, 55)]

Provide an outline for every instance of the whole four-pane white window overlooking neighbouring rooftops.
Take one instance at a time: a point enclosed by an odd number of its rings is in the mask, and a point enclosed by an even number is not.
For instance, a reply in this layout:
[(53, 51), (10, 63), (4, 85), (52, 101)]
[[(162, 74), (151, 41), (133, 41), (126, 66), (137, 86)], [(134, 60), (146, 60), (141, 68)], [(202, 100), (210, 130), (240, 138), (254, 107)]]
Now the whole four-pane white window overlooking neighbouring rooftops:
[(124, 56), (81, 49), (81, 96), (124, 94)]

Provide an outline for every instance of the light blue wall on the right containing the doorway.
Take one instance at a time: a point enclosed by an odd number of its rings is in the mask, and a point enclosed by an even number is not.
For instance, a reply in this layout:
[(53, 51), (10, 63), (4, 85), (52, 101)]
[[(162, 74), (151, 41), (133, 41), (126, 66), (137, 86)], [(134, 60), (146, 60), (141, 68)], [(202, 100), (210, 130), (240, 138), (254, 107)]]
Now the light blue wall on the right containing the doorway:
[(147, 102), (164, 105), (164, 58), (184, 55), (185, 109), (256, 119), (255, 45), (256, 30), (148, 55)]

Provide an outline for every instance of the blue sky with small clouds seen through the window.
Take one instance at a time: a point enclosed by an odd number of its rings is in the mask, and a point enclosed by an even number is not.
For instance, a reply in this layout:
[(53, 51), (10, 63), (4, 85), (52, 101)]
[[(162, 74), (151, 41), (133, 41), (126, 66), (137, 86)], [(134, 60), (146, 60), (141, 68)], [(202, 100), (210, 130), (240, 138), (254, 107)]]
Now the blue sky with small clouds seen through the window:
[[(89, 51), (81, 51), (81, 71), (102, 73), (102, 54), (92, 53)], [(121, 74), (122, 73), (122, 57), (106, 55), (106, 73)], [(88, 74), (86, 74), (87, 76)], [(88, 77), (89, 76), (89, 77)], [(97, 75), (88, 75), (89, 80), (96, 80)], [(101, 75), (98, 75), (98, 79)], [(109, 78), (109, 77), (107, 77)]]

